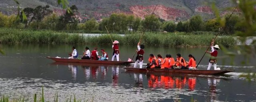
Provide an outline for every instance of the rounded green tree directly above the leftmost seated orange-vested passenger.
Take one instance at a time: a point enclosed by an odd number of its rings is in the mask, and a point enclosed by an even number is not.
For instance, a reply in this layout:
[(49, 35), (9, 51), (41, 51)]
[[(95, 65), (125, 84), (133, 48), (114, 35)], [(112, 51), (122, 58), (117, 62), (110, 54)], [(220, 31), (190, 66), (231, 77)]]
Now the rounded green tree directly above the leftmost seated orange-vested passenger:
[(148, 31), (156, 31), (160, 28), (161, 22), (155, 15), (148, 15), (145, 20), (142, 21), (142, 26), (145, 29), (148, 26)]

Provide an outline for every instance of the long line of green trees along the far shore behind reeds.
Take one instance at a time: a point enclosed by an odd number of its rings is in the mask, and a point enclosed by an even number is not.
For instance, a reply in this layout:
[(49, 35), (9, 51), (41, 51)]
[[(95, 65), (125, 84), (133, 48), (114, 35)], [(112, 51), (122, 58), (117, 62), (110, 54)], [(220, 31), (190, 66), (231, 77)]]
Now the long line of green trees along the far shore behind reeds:
[[(37, 6), (36, 8), (24, 8), (26, 14), (26, 20), (22, 20), (22, 14), (20, 19), (16, 19), (15, 15), (6, 16), (0, 13), (0, 27), (16, 27), (19, 29), (50, 29), (50, 30), (83, 30), (86, 32), (92, 31), (106, 31), (105, 26), (110, 32), (125, 32), (128, 31), (128, 26), (132, 28), (132, 31), (142, 31), (147, 26), (146, 31), (167, 31), (167, 32), (192, 32), (192, 31), (214, 31), (220, 30), (220, 23), (216, 19), (210, 19), (203, 21), (200, 15), (192, 16), (189, 20), (173, 22), (165, 21), (157, 16), (151, 15), (145, 16), (145, 19), (141, 19), (134, 15), (128, 14), (111, 14), (109, 18), (103, 18), (101, 21), (94, 18), (87, 20), (86, 22), (79, 22), (76, 17), (78, 8), (73, 5), (70, 7), (72, 12), (66, 11), (63, 16), (57, 16), (49, 9), (50, 6)], [(230, 20), (227, 21), (230, 14), (225, 15), (226, 22), (222, 28), (222, 32), (226, 34), (233, 33), (236, 30), (242, 31), (244, 28), (238, 25), (237, 22), (241, 20), (238, 15), (233, 14)], [(151, 17), (151, 18), (150, 18)]]

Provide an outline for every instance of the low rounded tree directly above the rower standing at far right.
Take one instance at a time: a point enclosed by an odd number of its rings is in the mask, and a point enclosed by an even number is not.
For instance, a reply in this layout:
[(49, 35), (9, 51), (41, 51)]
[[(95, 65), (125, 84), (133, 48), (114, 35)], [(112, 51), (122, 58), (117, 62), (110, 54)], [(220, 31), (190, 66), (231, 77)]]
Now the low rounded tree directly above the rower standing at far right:
[(204, 23), (204, 26), (206, 31), (218, 32), (220, 24), (217, 22), (216, 19), (210, 19)]

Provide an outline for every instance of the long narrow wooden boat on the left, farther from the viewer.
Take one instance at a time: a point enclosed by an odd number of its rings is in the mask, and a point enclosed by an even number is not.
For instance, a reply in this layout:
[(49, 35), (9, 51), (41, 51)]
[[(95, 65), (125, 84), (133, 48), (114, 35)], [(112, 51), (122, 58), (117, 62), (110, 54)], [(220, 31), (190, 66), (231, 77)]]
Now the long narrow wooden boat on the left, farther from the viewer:
[(94, 64), (109, 64), (109, 65), (127, 65), (129, 63), (134, 63), (130, 61), (99, 61), (99, 60), (90, 60), (90, 59), (64, 59), (64, 58), (54, 58), (46, 57), (52, 59), (56, 62), (65, 62), (65, 63), (94, 63)]

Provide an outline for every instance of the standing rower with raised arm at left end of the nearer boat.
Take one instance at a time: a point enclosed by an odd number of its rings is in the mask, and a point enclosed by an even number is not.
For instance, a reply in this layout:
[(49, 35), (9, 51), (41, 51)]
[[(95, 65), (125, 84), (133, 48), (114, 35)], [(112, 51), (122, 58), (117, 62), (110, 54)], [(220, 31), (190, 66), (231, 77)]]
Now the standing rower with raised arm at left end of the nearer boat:
[(137, 51), (137, 56), (135, 59), (135, 64), (134, 64), (134, 68), (137, 67), (137, 64), (140, 63), (140, 69), (142, 69), (142, 65), (143, 65), (143, 55), (144, 55), (144, 45), (140, 45), (140, 42), (137, 45), (138, 50)]

